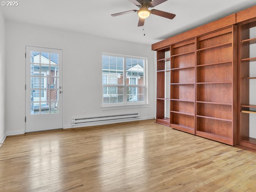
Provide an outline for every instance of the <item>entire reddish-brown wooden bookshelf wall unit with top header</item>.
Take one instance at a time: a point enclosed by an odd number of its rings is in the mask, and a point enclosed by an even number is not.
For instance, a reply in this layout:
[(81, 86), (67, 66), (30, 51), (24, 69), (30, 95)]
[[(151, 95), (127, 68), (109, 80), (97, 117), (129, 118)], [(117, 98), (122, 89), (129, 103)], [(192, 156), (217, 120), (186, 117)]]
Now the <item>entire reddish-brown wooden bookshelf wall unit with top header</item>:
[(255, 12), (256, 6), (152, 44), (170, 50), (157, 60), (170, 58), (170, 119), (162, 118), (172, 128), (256, 150)]

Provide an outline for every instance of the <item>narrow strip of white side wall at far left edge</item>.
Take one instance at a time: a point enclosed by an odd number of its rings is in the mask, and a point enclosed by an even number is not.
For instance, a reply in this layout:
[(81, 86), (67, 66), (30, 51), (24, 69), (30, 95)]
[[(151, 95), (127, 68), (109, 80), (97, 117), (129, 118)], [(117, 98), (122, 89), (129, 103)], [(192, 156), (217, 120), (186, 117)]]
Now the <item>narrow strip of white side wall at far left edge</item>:
[(2, 10), (0, 9), (0, 143), (2, 143), (6, 137), (5, 131), (5, 38), (4, 29), (5, 22)]

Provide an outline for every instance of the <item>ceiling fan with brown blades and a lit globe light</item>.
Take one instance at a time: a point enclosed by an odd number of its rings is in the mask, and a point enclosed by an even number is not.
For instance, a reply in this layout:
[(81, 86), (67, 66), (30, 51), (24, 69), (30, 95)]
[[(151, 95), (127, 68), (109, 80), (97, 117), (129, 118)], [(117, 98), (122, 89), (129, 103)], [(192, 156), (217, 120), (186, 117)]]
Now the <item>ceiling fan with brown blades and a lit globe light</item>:
[(156, 10), (156, 9), (148, 10), (148, 8), (155, 7), (163, 2), (166, 2), (167, 0), (129, 0), (129, 1), (132, 2), (134, 5), (136, 5), (138, 8), (140, 8), (140, 10), (130, 10), (125, 12), (120, 12), (120, 13), (112, 14), (111, 16), (114, 17), (114, 16), (131, 13), (131, 12), (138, 12), (138, 16), (140, 17), (138, 27), (144, 26), (145, 19), (148, 16), (150, 16), (150, 14), (158, 15), (168, 19), (173, 19), (176, 16), (175, 14)]

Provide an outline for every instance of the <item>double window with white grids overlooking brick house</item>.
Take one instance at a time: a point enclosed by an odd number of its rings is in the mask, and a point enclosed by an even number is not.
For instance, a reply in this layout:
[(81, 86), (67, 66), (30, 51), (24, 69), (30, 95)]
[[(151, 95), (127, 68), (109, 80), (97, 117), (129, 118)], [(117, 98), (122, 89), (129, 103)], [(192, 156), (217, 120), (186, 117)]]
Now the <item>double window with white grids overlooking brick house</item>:
[(102, 104), (146, 102), (146, 58), (102, 54)]

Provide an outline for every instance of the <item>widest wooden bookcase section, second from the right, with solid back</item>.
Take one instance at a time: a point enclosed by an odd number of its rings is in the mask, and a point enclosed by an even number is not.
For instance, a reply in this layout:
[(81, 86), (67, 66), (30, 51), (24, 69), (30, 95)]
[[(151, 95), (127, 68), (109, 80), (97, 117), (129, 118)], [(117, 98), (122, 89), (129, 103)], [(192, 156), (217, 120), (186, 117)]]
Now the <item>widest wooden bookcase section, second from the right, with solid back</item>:
[(237, 26), (196, 38), (196, 135), (237, 144)]

